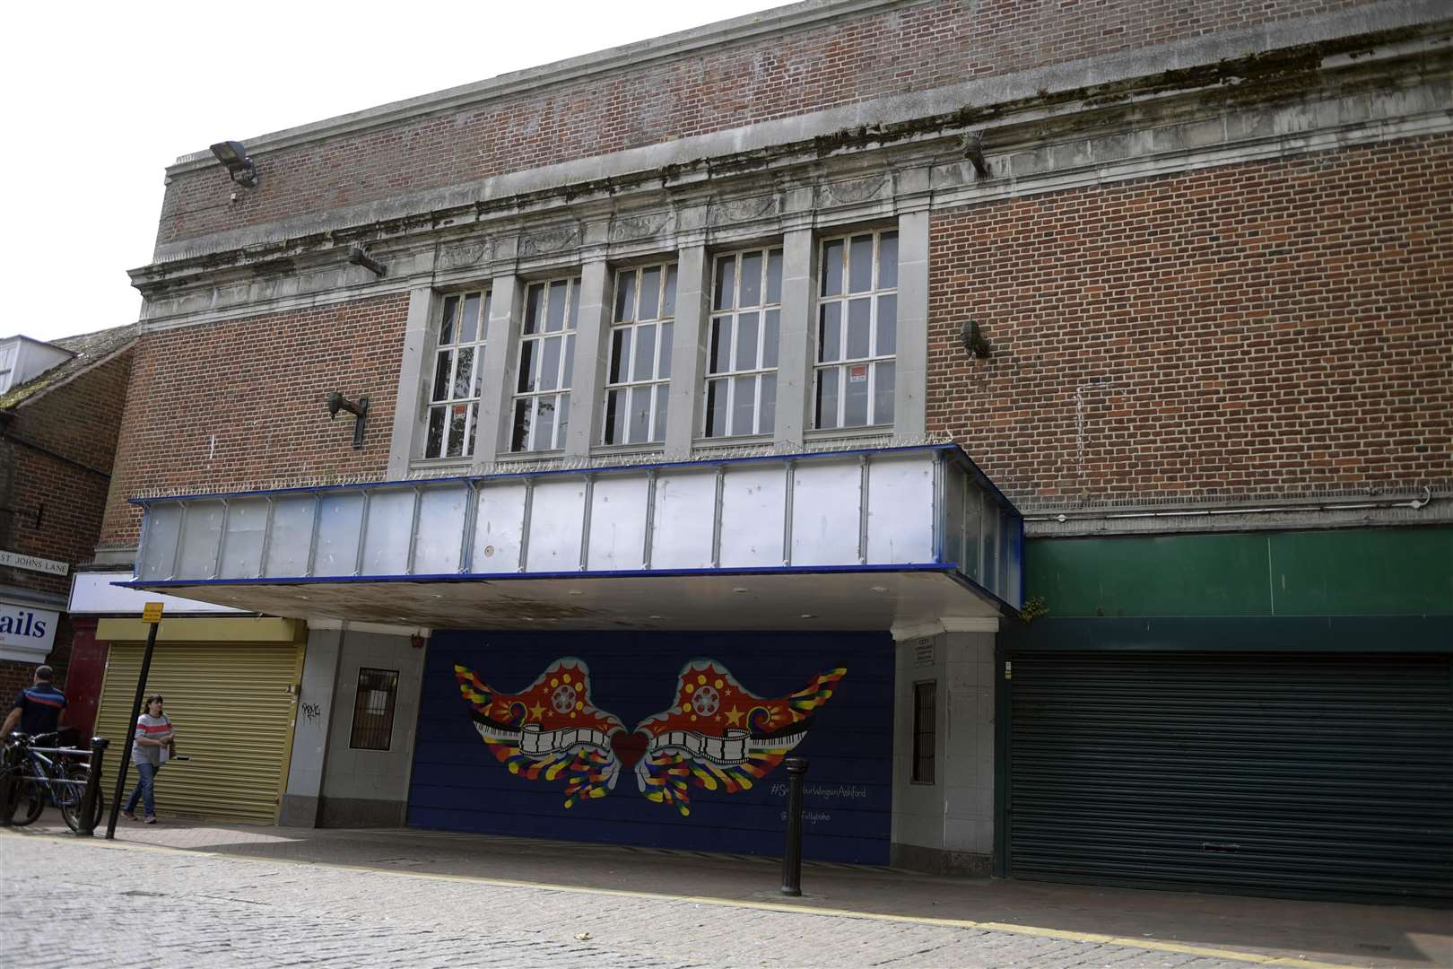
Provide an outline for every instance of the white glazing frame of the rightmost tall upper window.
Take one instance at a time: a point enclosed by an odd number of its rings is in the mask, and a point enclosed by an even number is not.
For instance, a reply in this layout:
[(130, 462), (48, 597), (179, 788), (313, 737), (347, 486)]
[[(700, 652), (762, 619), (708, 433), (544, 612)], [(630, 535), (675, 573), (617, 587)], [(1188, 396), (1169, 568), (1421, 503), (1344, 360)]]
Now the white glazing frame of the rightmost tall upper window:
[[(892, 237), (894, 243), (894, 272), (889, 280), (882, 277), (882, 248), (883, 238)], [(872, 250), (872, 277), (869, 280), (867, 289), (853, 291), (850, 272), (851, 272), (851, 256), (854, 247), (862, 246), (863, 241), (869, 241), (873, 247)], [(835, 293), (827, 292), (828, 289), (828, 273), (833, 269), (833, 254), (830, 248), (834, 243), (841, 243), (840, 254), (837, 256), (837, 269), (840, 270), (840, 291)], [(891, 285), (883, 285), (889, 282)], [(892, 340), (892, 347), (885, 349), (881, 346), (879, 327), (879, 308), (885, 305), (885, 298), (891, 298), (894, 307), (894, 320), (886, 328), (886, 334)], [(849, 347), (849, 314), (851, 311), (851, 304), (856, 301), (867, 301), (867, 353), (857, 356), (847, 356)], [(844, 232), (840, 235), (828, 235), (818, 241), (818, 280), (817, 280), (817, 312), (814, 320), (814, 349), (815, 360), (812, 365), (812, 429), (814, 430), (856, 430), (860, 427), (892, 427), (894, 426), (894, 394), (886, 394), (883, 401), (879, 401), (879, 378), (882, 376), (885, 366), (892, 366), (894, 382), (897, 385), (897, 362), (898, 362), (898, 315), (901, 308), (898, 307), (898, 228), (882, 228), (882, 230), (865, 230), (857, 232)], [(828, 320), (837, 315), (837, 346), (830, 346), (833, 341), (827, 338)], [(831, 353), (833, 359), (824, 359)], [(833, 414), (831, 418), (824, 421), (821, 394), (825, 381), (825, 375), (831, 372), (835, 376), (837, 388), (834, 391)], [(859, 379), (867, 384), (867, 407), (865, 420), (862, 423), (847, 423), (847, 386), (850, 382), (857, 382)], [(879, 413), (881, 405), (886, 404), (886, 413)]]

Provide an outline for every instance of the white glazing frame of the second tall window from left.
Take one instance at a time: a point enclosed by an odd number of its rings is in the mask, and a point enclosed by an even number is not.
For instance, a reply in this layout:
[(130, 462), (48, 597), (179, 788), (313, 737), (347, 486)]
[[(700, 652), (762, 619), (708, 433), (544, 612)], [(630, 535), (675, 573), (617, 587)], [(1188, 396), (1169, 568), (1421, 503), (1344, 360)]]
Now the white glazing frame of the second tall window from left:
[[(532, 317), (532, 295), (541, 293), (538, 320)], [(556, 299), (564, 301), (561, 328), (548, 330)], [(520, 340), (516, 347), (516, 386), (510, 398), (510, 452), (549, 452), (565, 446), (565, 427), (570, 426), (570, 385), (575, 359), (575, 334), (580, 320), (580, 275), (555, 276), (532, 280), (525, 286), (525, 308), (520, 318)], [(533, 331), (530, 327), (533, 325)], [(561, 350), (555, 357), (555, 373), (546, 375), (545, 349), (551, 340), (559, 340)], [(526, 363), (526, 356), (529, 362)], [(546, 379), (549, 378), (549, 379)], [(545, 384), (551, 384), (543, 386)], [(539, 414), (542, 407), (554, 407), (551, 433), (541, 434), (539, 421), (530, 420), (520, 437), (520, 407)]]

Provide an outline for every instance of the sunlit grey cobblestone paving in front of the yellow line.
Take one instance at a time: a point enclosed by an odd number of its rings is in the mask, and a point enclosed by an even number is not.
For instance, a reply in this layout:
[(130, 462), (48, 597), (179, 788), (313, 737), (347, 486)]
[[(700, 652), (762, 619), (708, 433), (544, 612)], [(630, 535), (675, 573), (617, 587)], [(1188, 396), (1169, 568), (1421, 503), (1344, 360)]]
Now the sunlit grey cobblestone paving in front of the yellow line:
[[(4, 963), (1035, 966), (1248, 962), (930, 921), (0, 834)], [(1266, 962), (1260, 959), (1257, 962)]]

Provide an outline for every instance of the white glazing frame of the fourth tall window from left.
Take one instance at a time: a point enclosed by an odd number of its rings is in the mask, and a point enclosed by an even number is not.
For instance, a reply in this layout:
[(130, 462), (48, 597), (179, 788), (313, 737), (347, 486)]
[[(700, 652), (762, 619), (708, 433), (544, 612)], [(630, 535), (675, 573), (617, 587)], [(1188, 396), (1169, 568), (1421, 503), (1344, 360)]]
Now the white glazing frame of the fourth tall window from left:
[[(753, 305), (742, 305), (742, 277), (741, 277), (741, 263), (742, 257), (760, 256), (761, 269), (757, 279), (757, 293), (758, 299)], [(776, 279), (776, 299), (772, 298), (772, 261), (776, 257), (777, 263), (777, 279)], [(731, 299), (724, 304), (722, 295), (719, 292), (722, 283), (722, 266), (732, 266), (732, 292)], [(721, 440), (726, 437), (745, 437), (753, 434), (770, 434), (776, 430), (776, 413), (777, 413), (777, 340), (782, 333), (782, 273), (783, 273), (783, 247), (777, 246), (756, 246), (751, 248), (735, 250), (731, 253), (721, 253), (712, 260), (712, 302), (711, 314), (706, 323), (706, 373), (702, 386), (702, 437), (711, 440)], [(742, 366), (738, 360), (737, 337), (741, 321), (747, 315), (757, 317), (757, 343), (756, 356), (750, 360), (751, 366)], [(767, 318), (770, 315), (776, 317), (776, 325), (767, 327)], [(718, 327), (726, 325), (731, 330), (728, 338), (728, 359), (725, 362), (725, 369), (712, 370), (712, 350), (716, 343)], [(767, 360), (772, 360), (769, 365)], [(735, 426), (737, 414), (737, 392), (742, 386), (742, 382), (751, 379), (753, 405), (751, 405), (751, 427), (741, 429)], [(770, 378), (770, 394), (772, 394), (772, 421), (764, 426), (763, 421), (763, 404), (766, 400), (766, 391)], [(721, 430), (712, 429), (712, 417), (715, 415), (715, 408), (712, 407), (713, 389), (716, 386), (722, 388), (722, 408), (725, 417), (721, 424)]]

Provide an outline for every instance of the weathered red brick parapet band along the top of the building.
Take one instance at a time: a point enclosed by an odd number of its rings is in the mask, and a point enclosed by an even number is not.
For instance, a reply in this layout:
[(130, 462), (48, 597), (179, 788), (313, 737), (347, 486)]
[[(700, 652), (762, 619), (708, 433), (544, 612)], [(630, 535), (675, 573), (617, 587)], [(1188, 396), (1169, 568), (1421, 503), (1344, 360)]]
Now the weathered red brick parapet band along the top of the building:
[[(936, 0), (174, 176), (158, 243), (1364, 0)], [(705, 10), (705, 9), (703, 9)], [(709, 13), (703, 13), (703, 19)], [(232, 192), (237, 203), (228, 203)]]

